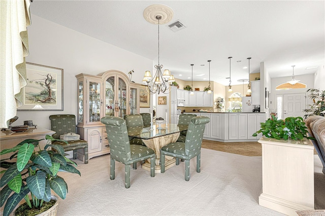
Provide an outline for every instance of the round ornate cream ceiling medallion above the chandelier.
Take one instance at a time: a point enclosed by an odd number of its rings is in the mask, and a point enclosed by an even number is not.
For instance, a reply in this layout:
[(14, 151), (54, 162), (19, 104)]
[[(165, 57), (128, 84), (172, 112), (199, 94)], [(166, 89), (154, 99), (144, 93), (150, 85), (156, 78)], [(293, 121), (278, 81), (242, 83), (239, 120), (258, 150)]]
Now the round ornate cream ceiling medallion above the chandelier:
[(174, 12), (165, 5), (150, 5), (143, 11), (143, 17), (151, 24), (158, 24), (156, 16), (161, 16), (159, 24), (166, 24), (173, 19)]

